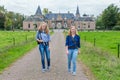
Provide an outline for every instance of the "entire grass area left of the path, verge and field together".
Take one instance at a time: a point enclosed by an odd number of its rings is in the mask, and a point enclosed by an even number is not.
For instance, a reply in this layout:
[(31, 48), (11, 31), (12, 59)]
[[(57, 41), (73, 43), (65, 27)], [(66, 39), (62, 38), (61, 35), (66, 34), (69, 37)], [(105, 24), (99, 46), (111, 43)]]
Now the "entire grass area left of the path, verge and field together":
[[(36, 32), (0, 31), (0, 73), (11, 63), (37, 46), (35, 34)], [(13, 45), (13, 37), (15, 38), (15, 45)], [(9, 48), (6, 49), (7, 47)]]

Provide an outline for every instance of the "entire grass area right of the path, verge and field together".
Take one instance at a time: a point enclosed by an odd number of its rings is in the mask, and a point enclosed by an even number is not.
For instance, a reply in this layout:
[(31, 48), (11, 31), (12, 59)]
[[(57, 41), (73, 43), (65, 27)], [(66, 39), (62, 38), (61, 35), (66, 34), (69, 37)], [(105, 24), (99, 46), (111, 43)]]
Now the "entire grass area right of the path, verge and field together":
[(117, 58), (120, 32), (79, 32), (79, 35), (81, 36), (79, 59), (89, 67), (96, 80), (120, 80), (120, 59)]

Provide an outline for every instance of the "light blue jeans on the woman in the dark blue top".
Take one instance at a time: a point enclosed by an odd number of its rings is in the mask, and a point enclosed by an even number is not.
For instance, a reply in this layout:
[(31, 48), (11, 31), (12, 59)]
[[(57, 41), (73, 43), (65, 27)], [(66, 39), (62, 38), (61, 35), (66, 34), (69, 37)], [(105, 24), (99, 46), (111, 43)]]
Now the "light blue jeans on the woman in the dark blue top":
[(71, 70), (71, 62), (73, 64), (72, 72), (76, 72), (76, 60), (78, 55), (78, 49), (68, 50), (68, 70)]

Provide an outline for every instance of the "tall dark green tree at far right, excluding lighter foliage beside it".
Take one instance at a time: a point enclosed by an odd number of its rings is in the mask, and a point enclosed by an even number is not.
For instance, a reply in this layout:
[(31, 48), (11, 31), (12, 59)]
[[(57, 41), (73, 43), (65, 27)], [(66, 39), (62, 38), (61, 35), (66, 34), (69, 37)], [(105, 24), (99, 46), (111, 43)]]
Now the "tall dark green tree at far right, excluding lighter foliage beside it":
[(105, 29), (112, 29), (118, 21), (119, 8), (111, 4), (102, 13), (102, 22)]

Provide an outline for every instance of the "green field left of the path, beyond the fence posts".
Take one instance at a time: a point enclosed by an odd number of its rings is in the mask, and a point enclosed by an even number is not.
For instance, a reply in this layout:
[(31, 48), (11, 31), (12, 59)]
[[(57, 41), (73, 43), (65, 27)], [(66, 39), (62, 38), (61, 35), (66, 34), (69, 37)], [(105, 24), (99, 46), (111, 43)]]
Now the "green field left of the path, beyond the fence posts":
[(33, 39), (35, 37), (35, 32), (27, 32), (27, 31), (0, 31), (0, 49), (4, 49), (9, 46), (18, 45), (21, 42), (25, 42), (26, 40)]

